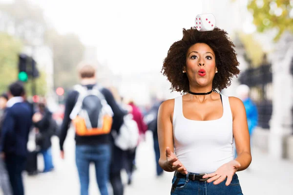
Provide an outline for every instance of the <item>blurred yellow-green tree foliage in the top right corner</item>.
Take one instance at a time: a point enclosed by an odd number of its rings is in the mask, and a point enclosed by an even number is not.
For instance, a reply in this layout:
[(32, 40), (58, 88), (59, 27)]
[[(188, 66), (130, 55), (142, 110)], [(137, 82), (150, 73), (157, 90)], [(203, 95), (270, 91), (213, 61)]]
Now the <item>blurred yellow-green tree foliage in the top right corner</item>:
[(284, 31), (293, 32), (293, 0), (250, 0), (247, 8), (253, 14), (257, 31), (277, 29), (275, 41)]

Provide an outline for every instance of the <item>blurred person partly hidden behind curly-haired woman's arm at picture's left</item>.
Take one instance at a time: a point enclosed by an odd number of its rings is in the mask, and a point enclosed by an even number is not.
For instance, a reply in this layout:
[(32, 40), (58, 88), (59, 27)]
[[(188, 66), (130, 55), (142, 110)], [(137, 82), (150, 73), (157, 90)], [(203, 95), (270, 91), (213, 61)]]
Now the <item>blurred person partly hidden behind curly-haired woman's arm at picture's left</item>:
[(155, 160), (156, 160), (156, 173), (157, 176), (163, 174), (163, 169), (159, 165), (160, 159), (160, 148), (159, 148), (159, 140), (158, 140), (158, 110), (160, 105), (163, 103), (162, 100), (156, 99), (153, 106), (145, 115), (145, 121), (147, 124), (147, 129), (151, 130), (153, 133), (153, 147), (155, 151)]

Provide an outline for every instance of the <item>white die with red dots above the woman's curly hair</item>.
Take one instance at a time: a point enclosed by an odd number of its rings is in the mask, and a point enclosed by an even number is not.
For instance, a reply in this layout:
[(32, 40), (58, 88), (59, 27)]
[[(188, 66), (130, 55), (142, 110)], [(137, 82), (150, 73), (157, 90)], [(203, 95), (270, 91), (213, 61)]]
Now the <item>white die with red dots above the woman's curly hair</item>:
[(198, 31), (211, 31), (216, 26), (216, 19), (212, 14), (198, 14), (195, 18), (195, 28)]

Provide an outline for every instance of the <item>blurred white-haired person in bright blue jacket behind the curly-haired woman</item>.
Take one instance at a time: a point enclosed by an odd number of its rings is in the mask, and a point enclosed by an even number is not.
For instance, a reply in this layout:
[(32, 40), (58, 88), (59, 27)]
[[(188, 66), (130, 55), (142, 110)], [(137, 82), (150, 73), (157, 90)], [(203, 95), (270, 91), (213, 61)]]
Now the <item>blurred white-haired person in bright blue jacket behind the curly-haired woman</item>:
[[(238, 98), (240, 98), (244, 104), (245, 111), (246, 111), (246, 117), (247, 117), (247, 123), (248, 123), (248, 130), (250, 135), (250, 140), (252, 141), (252, 134), (254, 129), (257, 126), (258, 121), (258, 112), (257, 107), (249, 97), (250, 88), (247, 85), (239, 85), (236, 88), (236, 95)], [(237, 156), (237, 153), (235, 151), (235, 157)]]

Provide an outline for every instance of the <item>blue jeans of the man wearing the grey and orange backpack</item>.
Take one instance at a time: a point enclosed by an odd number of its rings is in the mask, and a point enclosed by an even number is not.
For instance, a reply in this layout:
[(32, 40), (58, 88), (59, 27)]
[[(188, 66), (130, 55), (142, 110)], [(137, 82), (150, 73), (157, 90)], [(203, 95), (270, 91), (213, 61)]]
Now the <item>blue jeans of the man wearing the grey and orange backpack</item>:
[(89, 164), (93, 162), (96, 168), (96, 178), (101, 195), (108, 195), (110, 145), (77, 145), (75, 150), (76, 166), (80, 178), (81, 195), (88, 195)]

